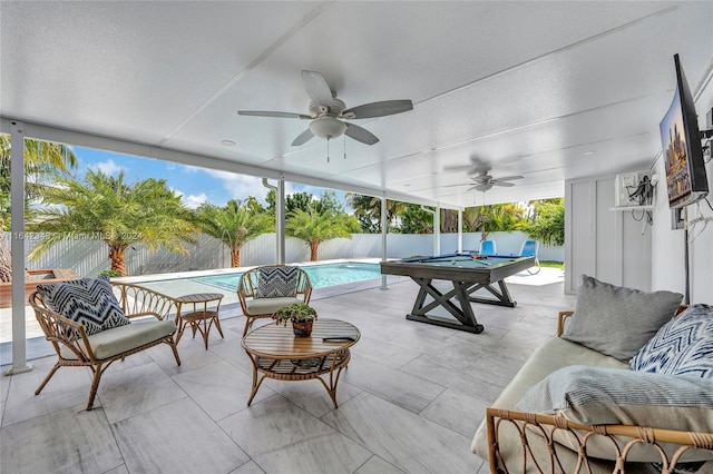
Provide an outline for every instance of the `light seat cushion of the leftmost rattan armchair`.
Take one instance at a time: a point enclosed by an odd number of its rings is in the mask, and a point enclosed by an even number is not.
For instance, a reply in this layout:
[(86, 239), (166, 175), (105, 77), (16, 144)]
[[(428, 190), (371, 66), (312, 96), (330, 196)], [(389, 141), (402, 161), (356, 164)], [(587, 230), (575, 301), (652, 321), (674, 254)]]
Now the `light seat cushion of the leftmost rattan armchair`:
[[(149, 320), (102, 330), (89, 336), (88, 339), (95, 357), (107, 359), (163, 339), (175, 330), (176, 324), (173, 320)], [(67, 347), (62, 347), (61, 355), (68, 359), (77, 358)]]

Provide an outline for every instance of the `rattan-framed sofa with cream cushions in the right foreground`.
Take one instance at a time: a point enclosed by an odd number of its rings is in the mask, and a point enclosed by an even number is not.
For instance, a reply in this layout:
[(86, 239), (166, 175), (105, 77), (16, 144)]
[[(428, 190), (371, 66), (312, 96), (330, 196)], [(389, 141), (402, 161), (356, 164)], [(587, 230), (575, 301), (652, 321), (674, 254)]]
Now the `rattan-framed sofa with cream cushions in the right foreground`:
[[(602, 283), (594, 282), (595, 286), (602, 286)], [(609, 299), (605, 306), (616, 307), (617, 297), (611, 298), (606, 292), (598, 297), (603, 295)], [(649, 295), (641, 293), (635, 296), (647, 298)], [(673, 298), (666, 295), (670, 302), (675, 300), (675, 294), (672, 295)], [(627, 293), (618, 296), (626, 297)], [(713, 461), (710, 461), (713, 460), (713, 409), (709, 406), (713, 398), (713, 381), (707, 378), (711, 374), (682, 377), (651, 373), (655, 371), (637, 372), (632, 369), (633, 362), (623, 361), (622, 355), (614, 357), (580, 342), (568, 340), (567, 326), (572, 326), (575, 319), (572, 316), (577, 310), (585, 313), (585, 305), (596, 307), (600, 302), (593, 305), (592, 298), (582, 297), (578, 290), (575, 312), (559, 314), (557, 337), (535, 350), (487, 409), (486, 418), (472, 440), (472, 452), (488, 460), (494, 473), (713, 473)], [(678, 307), (675, 314), (683, 309)], [(665, 314), (666, 309), (662, 310)], [(637, 356), (646, 346), (656, 346), (652, 340), (665, 329), (662, 326), (668, 326), (675, 319), (683, 320), (671, 316), (664, 325), (654, 325), (658, 327), (653, 336), (642, 336), (648, 339), (637, 350)], [(709, 320), (713, 327), (713, 317)], [(711, 327), (707, 330), (710, 333)], [(616, 328), (612, 328), (606, 336), (616, 339), (615, 333)], [(623, 335), (622, 340), (628, 338)], [(596, 347), (596, 344), (587, 344)], [(661, 362), (661, 355), (657, 357)], [(576, 374), (587, 371), (594, 375), (588, 374), (588, 378), (577, 381)], [(609, 374), (619, 377), (619, 382), (603, 382)], [(589, 392), (595, 393), (594, 398), (604, 392), (607, 392), (607, 397), (612, 394), (614, 398), (629, 396), (636, 392), (639, 379), (651, 384), (643, 385), (642, 391), (653, 398), (657, 394), (662, 398), (675, 398), (678, 384), (684, 384), (682, 394), (687, 394), (688, 389), (693, 391), (691, 393), (700, 391), (701, 396), (709, 399), (707, 405), (684, 401), (686, 406), (665, 406), (658, 416), (655, 411), (661, 407), (649, 407), (639, 402), (628, 404), (615, 399), (616, 403), (605, 404), (592, 398), (582, 402), (583, 396), (589, 396), (583, 394)], [(668, 383), (675, 384), (675, 388), (670, 388)], [(693, 385), (693, 388), (685, 384)], [(602, 386), (599, 392), (597, 385)], [(557, 397), (565, 402), (560, 405), (553, 402)], [(680, 471), (682, 468), (688, 471)]]

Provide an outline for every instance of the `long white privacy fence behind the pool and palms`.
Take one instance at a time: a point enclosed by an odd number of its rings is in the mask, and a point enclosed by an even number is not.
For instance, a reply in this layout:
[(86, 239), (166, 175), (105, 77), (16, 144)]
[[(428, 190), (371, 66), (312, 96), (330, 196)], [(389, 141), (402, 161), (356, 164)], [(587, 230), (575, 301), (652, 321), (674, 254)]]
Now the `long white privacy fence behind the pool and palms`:
[[(479, 233), (466, 233), (463, 249), (477, 250), (480, 246)], [(9, 240), (9, 233), (6, 238)], [(41, 235), (25, 235), (26, 254), (39, 243)], [(276, 261), (276, 235), (264, 234), (250, 240), (241, 249), (241, 266), (273, 264)], [(517, 255), (527, 236), (520, 231), (490, 233), (488, 239), (497, 243), (498, 254)], [(9, 241), (8, 241), (9, 245)], [(167, 250), (149, 251), (143, 245), (126, 249), (126, 270), (128, 275), (148, 275), (174, 271), (205, 270), (231, 266), (229, 249), (219, 240), (199, 235), (195, 245), (186, 245), (189, 255), (173, 254)], [(455, 253), (458, 248), (457, 234), (441, 234), (441, 254)], [(389, 234), (387, 236), (387, 257), (403, 258), (416, 255), (433, 255), (433, 235)], [(561, 246), (539, 246), (540, 260), (564, 261)], [(334, 258), (381, 258), (381, 235), (354, 234), (352, 239), (339, 238), (320, 245), (320, 260)], [(310, 259), (309, 246), (300, 239), (287, 237), (285, 260), (306, 261)], [(97, 276), (109, 269), (109, 249), (101, 240), (68, 239), (53, 246), (37, 260), (26, 261), (27, 268), (72, 268), (77, 275)]]

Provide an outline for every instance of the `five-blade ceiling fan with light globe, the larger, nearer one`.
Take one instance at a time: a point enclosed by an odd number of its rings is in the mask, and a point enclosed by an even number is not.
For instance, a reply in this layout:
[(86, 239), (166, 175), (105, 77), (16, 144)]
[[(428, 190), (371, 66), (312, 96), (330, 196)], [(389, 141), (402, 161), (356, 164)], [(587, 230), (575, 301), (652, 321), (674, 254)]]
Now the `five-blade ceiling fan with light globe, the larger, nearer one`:
[(364, 103), (362, 106), (346, 108), (346, 105), (332, 92), (321, 72), (302, 71), (302, 80), (310, 96), (310, 115), (292, 112), (270, 112), (260, 110), (238, 110), (241, 116), (253, 117), (279, 117), (312, 120), (310, 128), (304, 130), (292, 142), (293, 147), (306, 144), (312, 137), (331, 140), (342, 134), (356, 141), (367, 145), (374, 145), (379, 141), (375, 135), (365, 128), (344, 120), (365, 119), (374, 117), (391, 116), (413, 109), (410, 100), (384, 100), (381, 102)]

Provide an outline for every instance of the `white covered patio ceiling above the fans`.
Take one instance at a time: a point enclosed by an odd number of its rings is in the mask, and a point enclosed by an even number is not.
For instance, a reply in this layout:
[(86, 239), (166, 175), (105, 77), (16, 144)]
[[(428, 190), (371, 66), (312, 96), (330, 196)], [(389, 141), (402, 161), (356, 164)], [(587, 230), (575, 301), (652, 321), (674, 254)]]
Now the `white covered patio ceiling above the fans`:
[[(711, 24), (710, 1), (2, 1), (0, 117), (4, 132), (20, 120), (28, 137), (442, 207), (482, 204), (477, 170), (524, 176), (487, 204), (548, 198), (652, 164), (673, 55), (703, 89)], [(333, 139), (329, 161), (320, 138), (291, 146), (307, 120), (237, 115), (306, 115), (302, 70), (348, 108), (413, 110), (352, 120), (380, 141)]]

